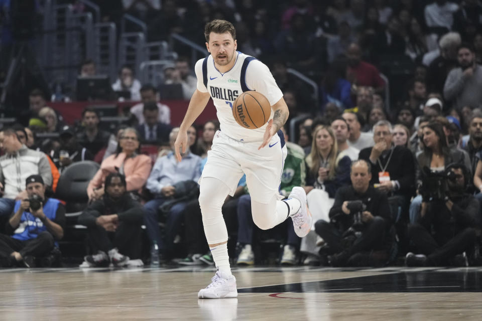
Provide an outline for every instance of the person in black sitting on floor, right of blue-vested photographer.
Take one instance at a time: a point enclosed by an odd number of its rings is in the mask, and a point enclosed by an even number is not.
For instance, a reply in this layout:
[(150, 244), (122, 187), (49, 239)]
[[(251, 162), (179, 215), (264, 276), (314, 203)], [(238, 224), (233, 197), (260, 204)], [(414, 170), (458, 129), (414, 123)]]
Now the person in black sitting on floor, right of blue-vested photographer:
[(89, 242), (96, 254), (84, 260), (91, 266), (127, 265), (141, 254), (142, 206), (127, 192), (124, 175), (110, 173), (105, 178), (104, 195), (79, 216), (87, 226)]

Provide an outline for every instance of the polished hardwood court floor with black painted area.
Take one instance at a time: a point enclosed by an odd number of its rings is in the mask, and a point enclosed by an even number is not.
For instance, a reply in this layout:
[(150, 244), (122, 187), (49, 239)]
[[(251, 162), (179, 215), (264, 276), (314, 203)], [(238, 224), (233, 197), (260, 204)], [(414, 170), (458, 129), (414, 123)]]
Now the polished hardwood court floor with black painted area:
[(237, 299), (198, 300), (212, 268), (0, 269), (0, 320), (480, 320), (482, 268), (234, 269)]

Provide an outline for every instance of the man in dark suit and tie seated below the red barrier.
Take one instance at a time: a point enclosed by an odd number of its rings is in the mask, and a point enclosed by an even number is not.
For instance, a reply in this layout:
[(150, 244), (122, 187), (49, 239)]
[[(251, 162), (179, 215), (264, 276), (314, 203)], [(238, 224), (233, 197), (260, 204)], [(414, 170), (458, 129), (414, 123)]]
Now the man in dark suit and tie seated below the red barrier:
[(170, 125), (159, 122), (157, 104), (155, 102), (144, 103), (142, 114), (145, 123), (137, 127), (141, 140), (147, 143), (169, 141), (169, 133), (172, 128)]

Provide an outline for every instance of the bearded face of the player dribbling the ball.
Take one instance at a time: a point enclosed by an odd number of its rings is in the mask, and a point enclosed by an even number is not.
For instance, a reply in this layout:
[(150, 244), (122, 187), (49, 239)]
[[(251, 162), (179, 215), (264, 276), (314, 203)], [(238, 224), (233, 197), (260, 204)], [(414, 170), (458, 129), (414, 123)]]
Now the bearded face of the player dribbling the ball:
[(234, 64), (234, 53), (236, 52), (237, 43), (230, 33), (216, 34), (211, 32), (209, 34), (209, 43), (206, 43), (206, 48), (211, 53), (214, 62), (218, 66), (227, 66)]

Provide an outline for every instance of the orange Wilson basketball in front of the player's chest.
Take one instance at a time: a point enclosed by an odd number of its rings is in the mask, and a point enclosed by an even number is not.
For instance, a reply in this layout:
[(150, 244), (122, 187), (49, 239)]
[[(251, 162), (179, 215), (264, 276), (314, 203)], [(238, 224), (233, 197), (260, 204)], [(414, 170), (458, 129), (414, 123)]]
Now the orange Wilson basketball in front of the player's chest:
[(257, 91), (245, 91), (232, 104), (232, 115), (244, 128), (259, 128), (270, 119), (271, 105), (263, 94)]

